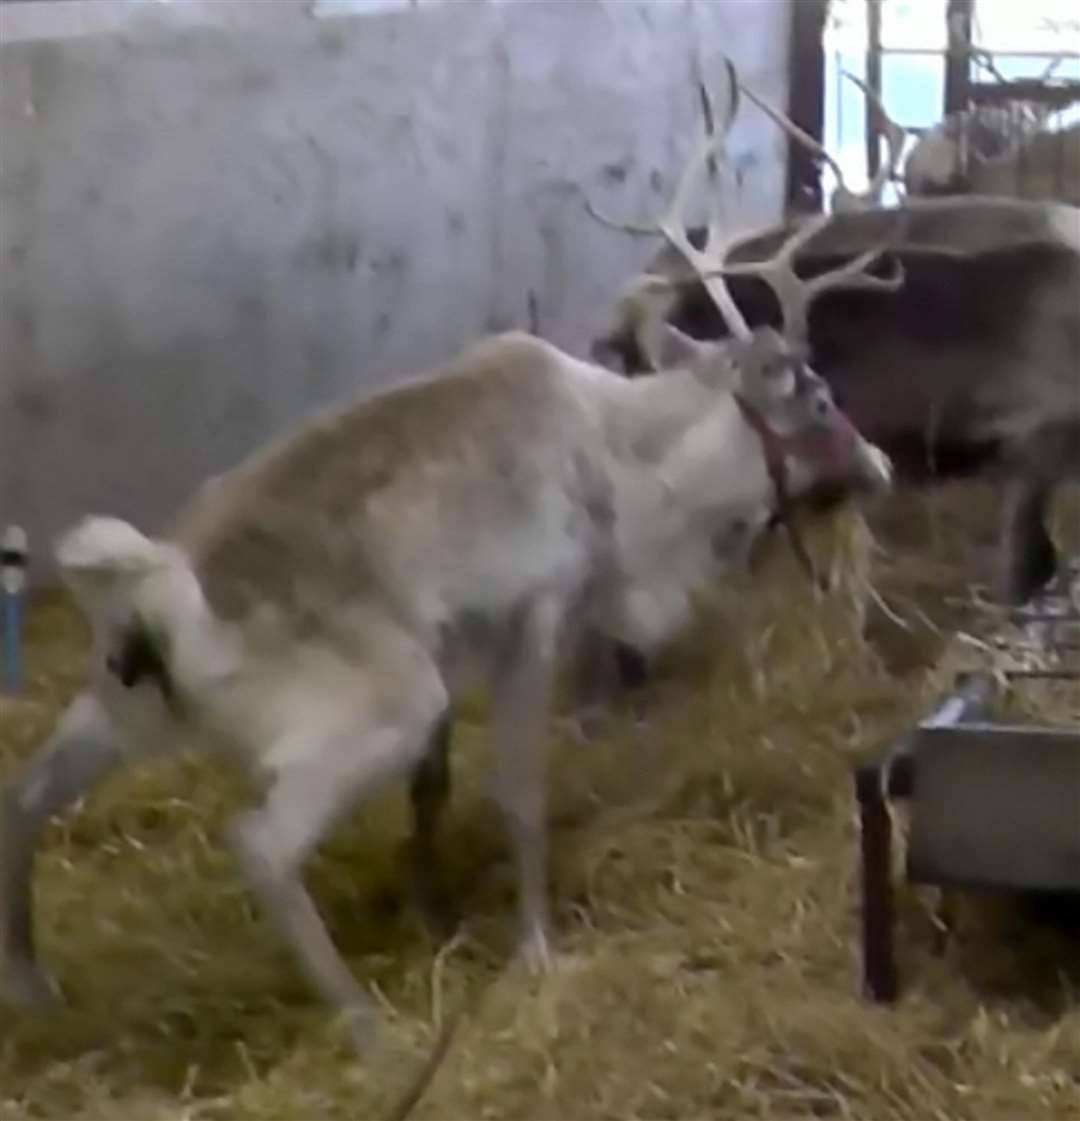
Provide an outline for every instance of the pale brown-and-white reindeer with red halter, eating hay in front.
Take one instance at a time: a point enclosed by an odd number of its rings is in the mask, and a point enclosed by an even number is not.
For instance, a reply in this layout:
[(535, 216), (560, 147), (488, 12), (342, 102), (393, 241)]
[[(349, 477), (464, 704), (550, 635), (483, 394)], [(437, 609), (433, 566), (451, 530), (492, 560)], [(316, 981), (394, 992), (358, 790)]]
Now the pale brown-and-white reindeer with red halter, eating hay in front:
[[(708, 136), (698, 163), (722, 139)], [(680, 192), (665, 230), (685, 251), (682, 203)], [(232, 847), (362, 1044), (372, 1006), (301, 868), (394, 779), (419, 776), (418, 813), (434, 827), (444, 790), (425, 761), (478, 678), (492, 691), (520, 949), (546, 963), (544, 741), (563, 652), (588, 628), (648, 648), (682, 626), (693, 590), (772, 517), (781, 475), (793, 498), (890, 483), (802, 354), (746, 326), (713, 252), (690, 256), (732, 337), (652, 324), (662, 377), (497, 335), (299, 424), (206, 482), (159, 538), (108, 517), (63, 535), (61, 569), (92, 621), (91, 679), (0, 795), (0, 993), (31, 1006), (57, 995), (33, 938), (48, 817), (121, 762), (199, 745), (262, 779), (265, 802), (232, 823)], [(767, 276), (804, 303), (812, 290), (787, 260), (782, 250)], [(837, 279), (853, 282), (856, 265)]]

